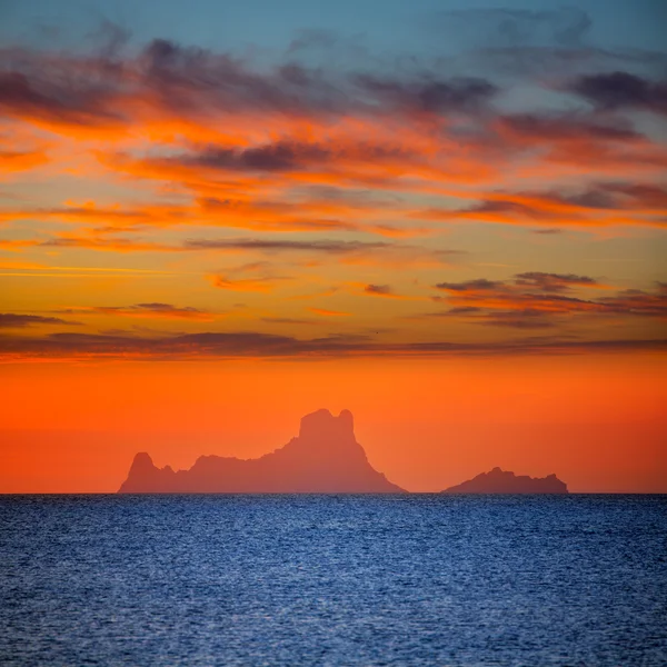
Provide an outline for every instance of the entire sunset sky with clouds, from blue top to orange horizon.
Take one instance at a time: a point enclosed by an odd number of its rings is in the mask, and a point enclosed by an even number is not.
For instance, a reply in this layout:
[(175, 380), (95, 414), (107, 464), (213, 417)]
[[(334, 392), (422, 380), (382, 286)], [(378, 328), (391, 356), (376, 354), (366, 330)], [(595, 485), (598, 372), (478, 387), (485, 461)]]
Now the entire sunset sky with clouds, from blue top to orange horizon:
[(667, 492), (666, 19), (0, 0), (0, 492), (322, 407), (409, 490)]

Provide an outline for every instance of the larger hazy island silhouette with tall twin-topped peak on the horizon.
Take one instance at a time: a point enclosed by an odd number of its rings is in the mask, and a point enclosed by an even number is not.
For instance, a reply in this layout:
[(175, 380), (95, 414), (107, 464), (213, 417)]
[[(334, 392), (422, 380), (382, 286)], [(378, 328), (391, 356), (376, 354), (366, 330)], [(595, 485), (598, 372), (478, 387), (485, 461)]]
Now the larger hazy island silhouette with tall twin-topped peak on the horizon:
[(157, 468), (137, 454), (119, 494), (399, 494), (372, 468), (355, 437), (349, 410), (317, 410), (299, 436), (257, 459), (201, 456), (189, 470)]

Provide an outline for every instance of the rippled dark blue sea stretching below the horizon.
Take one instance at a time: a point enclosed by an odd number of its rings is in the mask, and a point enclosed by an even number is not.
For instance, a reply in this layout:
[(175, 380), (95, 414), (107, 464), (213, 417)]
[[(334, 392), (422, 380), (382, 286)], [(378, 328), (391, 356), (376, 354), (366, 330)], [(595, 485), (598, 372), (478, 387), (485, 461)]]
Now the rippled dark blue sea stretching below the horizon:
[(667, 496), (0, 496), (2, 665), (667, 665)]

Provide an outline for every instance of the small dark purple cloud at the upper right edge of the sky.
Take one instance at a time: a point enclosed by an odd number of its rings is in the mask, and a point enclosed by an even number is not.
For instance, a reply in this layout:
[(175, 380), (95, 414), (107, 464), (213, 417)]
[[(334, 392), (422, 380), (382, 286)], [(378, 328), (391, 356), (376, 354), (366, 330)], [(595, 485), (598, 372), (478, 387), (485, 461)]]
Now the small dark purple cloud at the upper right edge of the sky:
[(570, 90), (601, 109), (646, 109), (667, 113), (667, 80), (651, 81), (624, 71), (580, 77)]

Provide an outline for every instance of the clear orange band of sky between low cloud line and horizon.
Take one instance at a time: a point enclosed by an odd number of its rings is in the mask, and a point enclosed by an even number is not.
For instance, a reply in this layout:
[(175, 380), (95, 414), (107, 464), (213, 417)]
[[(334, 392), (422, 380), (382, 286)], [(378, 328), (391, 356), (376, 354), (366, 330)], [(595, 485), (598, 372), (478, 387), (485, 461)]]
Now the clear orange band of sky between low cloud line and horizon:
[(667, 492), (664, 355), (1, 368), (3, 492), (115, 491), (139, 450), (176, 468), (260, 456), (320, 407), (351, 409), (374, 466), (414, 491), (498, 465)]

